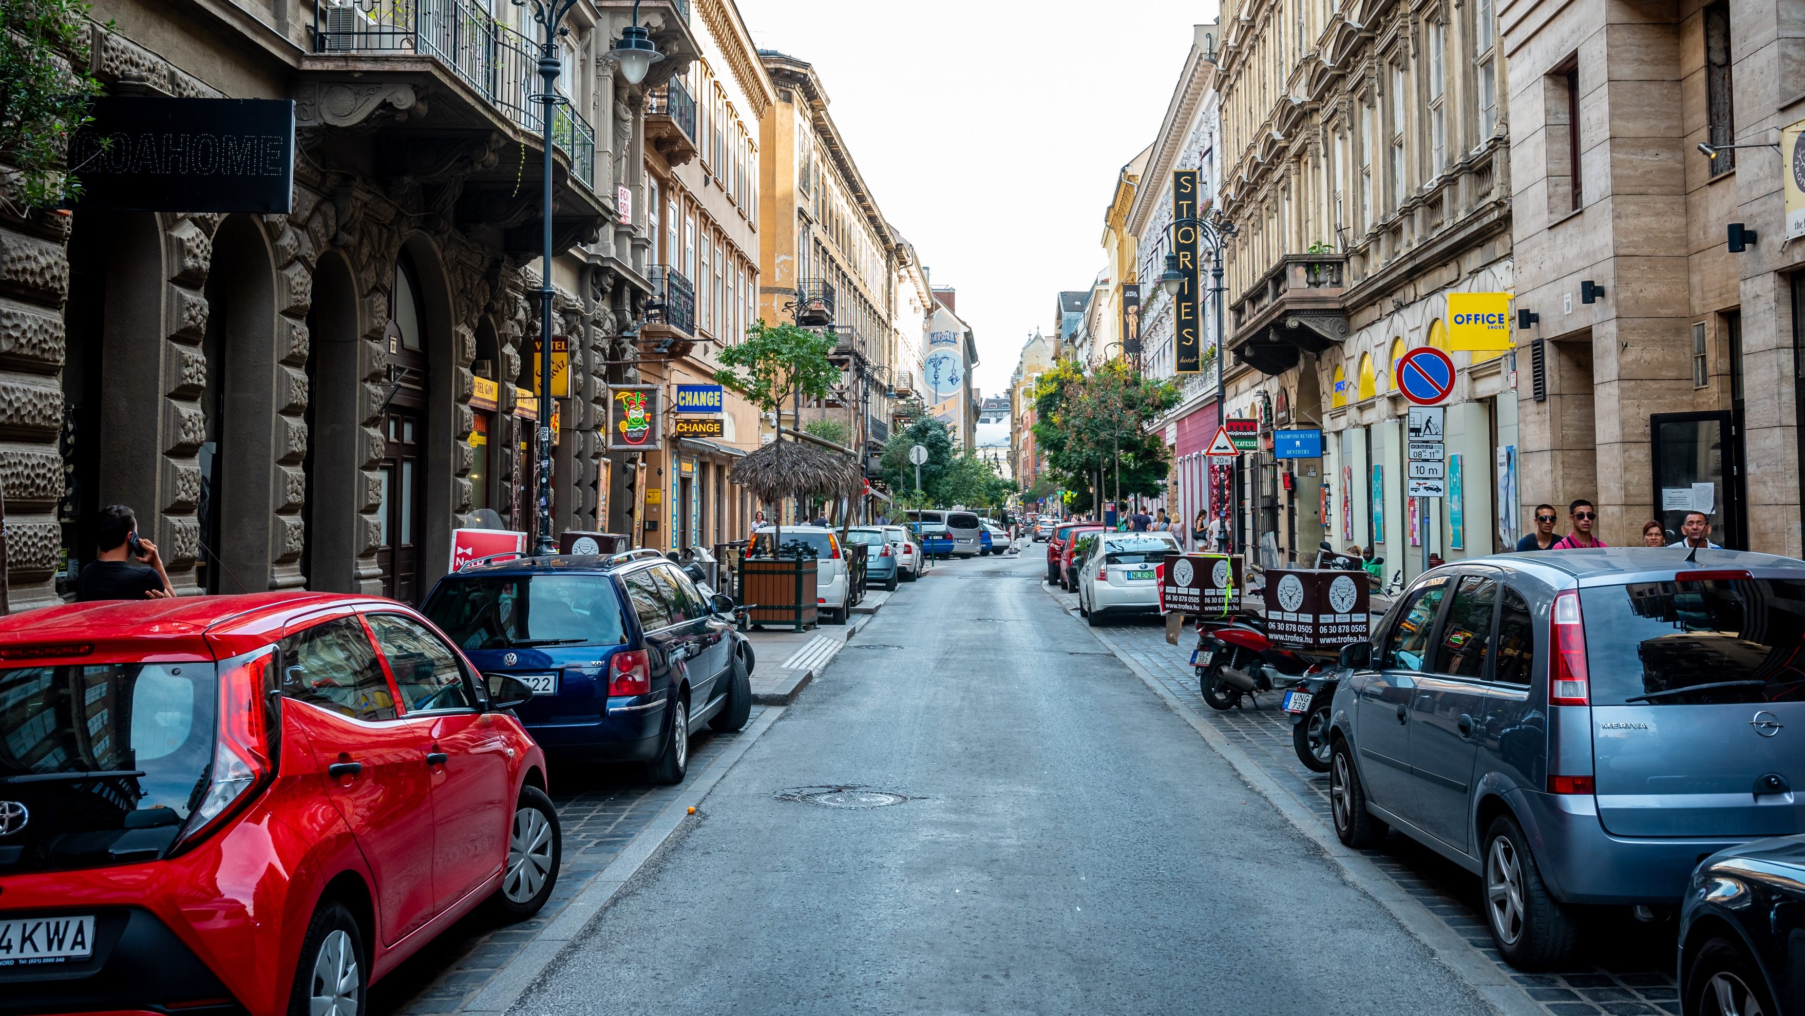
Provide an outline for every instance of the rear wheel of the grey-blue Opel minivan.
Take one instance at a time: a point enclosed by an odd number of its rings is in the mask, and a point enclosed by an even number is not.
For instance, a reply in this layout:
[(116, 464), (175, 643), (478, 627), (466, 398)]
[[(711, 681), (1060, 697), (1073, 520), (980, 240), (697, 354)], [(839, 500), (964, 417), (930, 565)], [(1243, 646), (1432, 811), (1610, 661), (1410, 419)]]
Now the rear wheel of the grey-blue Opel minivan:
[(1498, 816), (1486, 832), (1486, 926), (1505, 962), (1538, 971), (1572, 955), (1579, 922), (1549, 893), (1523, 828)]

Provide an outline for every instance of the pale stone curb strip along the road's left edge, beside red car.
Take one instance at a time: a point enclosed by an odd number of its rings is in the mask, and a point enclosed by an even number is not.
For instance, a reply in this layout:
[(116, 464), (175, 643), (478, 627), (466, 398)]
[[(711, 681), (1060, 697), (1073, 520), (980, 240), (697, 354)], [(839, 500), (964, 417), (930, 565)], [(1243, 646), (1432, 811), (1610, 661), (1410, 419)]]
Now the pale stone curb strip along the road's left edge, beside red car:
[(702, 798), (720, 783), (720, 778), (733, 769), (733, 763), (740, 760), (742, 754), (753, 744), (771, 729), (771, 724), (783, 715), (782, 707), (765, 709), (758, 720), (747, 727), (745, 734), (733, 742), (733, 747), (724, 751), (720, 758), (709, 763), (695, 780), (688, 781), (671, 803), (664, 805), (646, 828), (639, 830), (639, 836), (626, 843), (619, 857), (612, 864), (601, 870), (594, 881), (583, 886), (583, 891), (572, 899), (563, 911), (547, 924), (525, 949), (514, 956), (502, 971), (477, 993), (475, 998), (466, 1002), (457, 1012), (460, 1016), (502, 1016), (514, 1003), (525, 996), (527, 989), (540, 980), (545, 967), (552, 964), (569, 946), (583, 938), (585, 929), (601, 915), (603, 910), (614, 897), (626, 888), (626, 882), (646, 866), (646, 861), (657, 855), (659, 848), (670, 841), (671, 834), (682, 827), (682, 821), (690, 817), (690, 808), (702, 803)]

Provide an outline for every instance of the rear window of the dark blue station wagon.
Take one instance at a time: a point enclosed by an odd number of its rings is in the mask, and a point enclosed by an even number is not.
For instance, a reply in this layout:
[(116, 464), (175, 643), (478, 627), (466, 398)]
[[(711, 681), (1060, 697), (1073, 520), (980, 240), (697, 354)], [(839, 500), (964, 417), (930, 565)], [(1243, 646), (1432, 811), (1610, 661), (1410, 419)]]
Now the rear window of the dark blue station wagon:
[(597, 574), (451, 576), (424, 612), (460, 650), (626, 642), (614, 581)]

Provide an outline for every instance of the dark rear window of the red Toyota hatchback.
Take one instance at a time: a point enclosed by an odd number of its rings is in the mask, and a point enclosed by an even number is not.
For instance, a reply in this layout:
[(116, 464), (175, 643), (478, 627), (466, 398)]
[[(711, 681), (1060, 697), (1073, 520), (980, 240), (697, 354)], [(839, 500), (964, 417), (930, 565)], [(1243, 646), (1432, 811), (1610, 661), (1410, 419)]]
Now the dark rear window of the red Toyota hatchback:
[(7, 872), (161, 857), (208, 789), (211, 662), (0, 670), (0, 798), (32, 821)]

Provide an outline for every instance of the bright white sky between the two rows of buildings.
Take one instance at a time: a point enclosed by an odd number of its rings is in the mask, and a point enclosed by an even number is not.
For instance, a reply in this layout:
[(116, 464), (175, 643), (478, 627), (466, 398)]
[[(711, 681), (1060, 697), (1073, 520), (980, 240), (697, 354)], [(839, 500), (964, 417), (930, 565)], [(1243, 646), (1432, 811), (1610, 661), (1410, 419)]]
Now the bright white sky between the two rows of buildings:
[(814, 65), (877, 208), (958, 289), (1000, 393), (1054, 296), (1103, 267), (1115, 173), (1153, 141), (1211, 0), (736, 0)]

